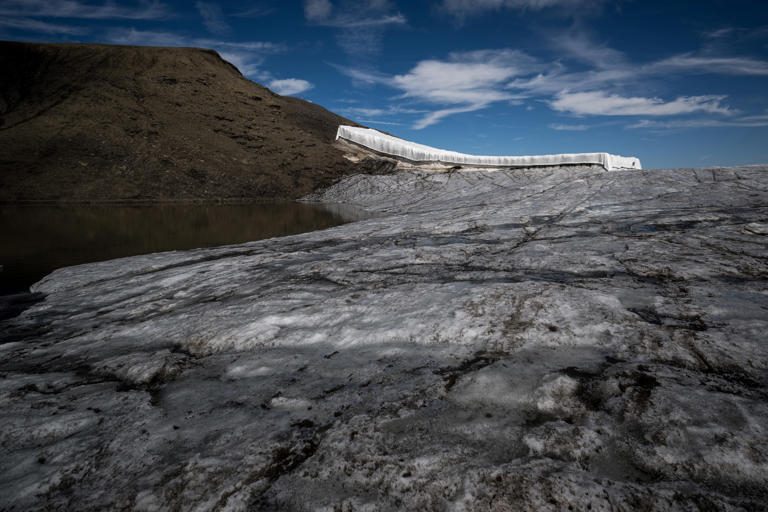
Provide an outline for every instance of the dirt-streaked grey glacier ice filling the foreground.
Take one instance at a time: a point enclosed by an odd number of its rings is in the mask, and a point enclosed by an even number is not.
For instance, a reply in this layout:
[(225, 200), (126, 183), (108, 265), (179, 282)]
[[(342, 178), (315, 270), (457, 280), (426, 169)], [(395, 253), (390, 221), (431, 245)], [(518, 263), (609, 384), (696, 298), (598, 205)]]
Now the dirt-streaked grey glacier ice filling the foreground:
[(307, 200), (371, 216), (34, 286), (0, 509), (765, 510), (768, 167)]

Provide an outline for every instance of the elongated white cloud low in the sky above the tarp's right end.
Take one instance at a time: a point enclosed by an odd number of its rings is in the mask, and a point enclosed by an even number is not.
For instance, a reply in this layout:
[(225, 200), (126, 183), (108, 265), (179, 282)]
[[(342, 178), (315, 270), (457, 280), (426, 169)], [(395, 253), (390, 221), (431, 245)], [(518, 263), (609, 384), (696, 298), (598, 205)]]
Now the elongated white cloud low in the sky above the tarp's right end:
[(681, 96), (672, 101), (660, 98), (624, 97), (603, 91), (563, 92), (550, 102), (559, 112), (595, 116), (673, 116), (706, 112), (709, 114), (733, 114), (721, 105), (725, 96)]

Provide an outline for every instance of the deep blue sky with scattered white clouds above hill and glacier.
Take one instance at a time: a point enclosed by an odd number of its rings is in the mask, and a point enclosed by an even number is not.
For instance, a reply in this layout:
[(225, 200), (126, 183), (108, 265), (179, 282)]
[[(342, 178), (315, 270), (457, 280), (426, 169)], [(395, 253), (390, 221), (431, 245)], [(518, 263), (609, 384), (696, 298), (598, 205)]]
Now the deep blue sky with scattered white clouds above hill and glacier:
[(0, 0), (0, 39), (210, 47), (277, 92), (476, 154), (768, 163), (765, 0)]

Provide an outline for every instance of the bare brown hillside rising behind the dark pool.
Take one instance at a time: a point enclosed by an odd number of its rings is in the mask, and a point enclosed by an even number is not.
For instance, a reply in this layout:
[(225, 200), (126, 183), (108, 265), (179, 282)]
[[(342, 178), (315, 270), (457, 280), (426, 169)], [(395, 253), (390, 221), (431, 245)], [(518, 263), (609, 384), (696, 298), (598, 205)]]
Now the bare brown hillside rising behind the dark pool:
[(0, 42), (0, 201), (300, 197), (340, 123), (211, 50)]

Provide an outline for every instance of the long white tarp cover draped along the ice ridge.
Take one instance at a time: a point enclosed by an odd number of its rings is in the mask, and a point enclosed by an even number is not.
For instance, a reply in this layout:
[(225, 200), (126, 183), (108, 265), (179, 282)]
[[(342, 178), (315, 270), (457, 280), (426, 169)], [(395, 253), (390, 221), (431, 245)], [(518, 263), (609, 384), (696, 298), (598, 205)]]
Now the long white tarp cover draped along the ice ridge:
[(536, 167), (553, 165), (601, 165), (608, 171), (642, 169), (635, 157), (608, 153), (573, 153), (537, 156), (478, 156), (446, 151), (417, 144), (371, 128), (339, 126), (336, 139), (344, 139), (385, 155), (397, 156), (411, 162), (440, 162), (444, 164), (479, 167)]

